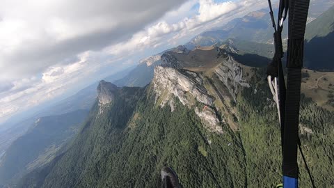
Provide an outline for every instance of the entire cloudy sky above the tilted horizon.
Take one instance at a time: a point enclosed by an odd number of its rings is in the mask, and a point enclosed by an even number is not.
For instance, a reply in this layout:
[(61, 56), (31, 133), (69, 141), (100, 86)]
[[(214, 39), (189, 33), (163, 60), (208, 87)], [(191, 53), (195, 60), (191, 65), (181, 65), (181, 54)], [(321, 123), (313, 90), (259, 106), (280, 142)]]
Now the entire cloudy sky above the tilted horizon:
[(262, 0), (0, 1), (0, 123), (267, 6)]

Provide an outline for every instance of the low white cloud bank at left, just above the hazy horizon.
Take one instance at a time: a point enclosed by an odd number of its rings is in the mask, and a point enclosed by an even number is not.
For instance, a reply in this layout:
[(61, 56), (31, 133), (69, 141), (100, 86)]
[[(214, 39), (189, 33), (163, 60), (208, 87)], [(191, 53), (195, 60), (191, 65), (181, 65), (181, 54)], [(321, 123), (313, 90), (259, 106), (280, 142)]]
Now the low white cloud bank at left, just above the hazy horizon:
[(10, 89), (0, 93), (0, 123), (13, 113), (54, 99), (65, 92), (74, 92), (75, 89), (84, 87), (86, 81), (106, 77), (106, 73), (100, 74), (101, 68), (106, 68), (113, 63), (119, 67), (122, 65), (119, 58), (102, 60), (102, 56), (106, 54), (84, 52), (77, 56), (78, 60), (74, 63), (48, 68), (41, 73), (40, 78), (30, 77), (13, 81)]

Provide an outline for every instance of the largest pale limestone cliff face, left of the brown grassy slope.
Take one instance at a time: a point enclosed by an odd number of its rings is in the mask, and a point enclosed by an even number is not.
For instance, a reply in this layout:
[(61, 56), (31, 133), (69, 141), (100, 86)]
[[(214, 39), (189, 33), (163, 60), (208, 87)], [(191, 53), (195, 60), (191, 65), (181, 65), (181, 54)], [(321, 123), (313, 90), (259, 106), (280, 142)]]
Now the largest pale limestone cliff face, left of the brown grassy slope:
[[(214, 97), (207, 93), (202, 78), (196, 72), (157, 66), (154, 68), (152, 84), (157, 94), (156, 102), (159, 102), (161, 107), (169, 104), (171, 111), (174, 111), (173, 96), (177, 97), (183, 105), (194, 107), (195, 113), (209, 131), (223, 133), (216, 112), (212, 109)], [(195, 107), (196, 102), (204, 104), (205, 108)]]

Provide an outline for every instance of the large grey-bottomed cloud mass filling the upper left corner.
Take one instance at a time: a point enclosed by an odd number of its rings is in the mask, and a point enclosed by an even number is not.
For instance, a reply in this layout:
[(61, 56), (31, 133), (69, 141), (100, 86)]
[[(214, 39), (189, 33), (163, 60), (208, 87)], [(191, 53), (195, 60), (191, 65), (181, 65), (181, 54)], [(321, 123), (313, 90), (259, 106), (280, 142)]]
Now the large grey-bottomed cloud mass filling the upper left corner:
[(128, 38), (184, 2), (1, 1), (0, 80), (29, 77), (70, 56)]

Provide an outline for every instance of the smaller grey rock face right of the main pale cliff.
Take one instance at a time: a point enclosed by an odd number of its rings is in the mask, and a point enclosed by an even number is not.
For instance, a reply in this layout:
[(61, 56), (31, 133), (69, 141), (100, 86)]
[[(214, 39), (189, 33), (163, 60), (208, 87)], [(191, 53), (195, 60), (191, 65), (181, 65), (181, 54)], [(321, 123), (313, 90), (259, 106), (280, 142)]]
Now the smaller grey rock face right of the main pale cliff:
[(228, 88), (234, 100), (236, 100), (236, 95), (239, 92), (239, 86), (249, 87), (249, 84), (243, 79), (241, 65), (232, 56), (226, 56), (223, 63), (215, 68), (215, 72), (226, 88)]

